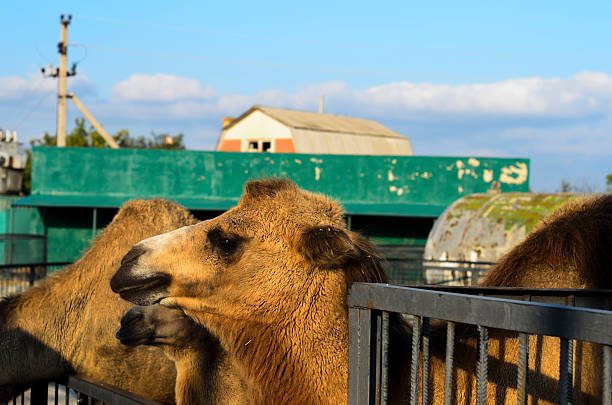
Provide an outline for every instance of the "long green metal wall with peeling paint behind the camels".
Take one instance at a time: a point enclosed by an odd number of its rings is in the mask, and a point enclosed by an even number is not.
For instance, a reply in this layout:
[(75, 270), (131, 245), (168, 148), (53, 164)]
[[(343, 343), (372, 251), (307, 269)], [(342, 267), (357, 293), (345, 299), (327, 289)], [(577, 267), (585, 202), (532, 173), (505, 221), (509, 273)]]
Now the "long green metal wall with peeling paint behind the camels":
[(264, 176), (335, 198), (352, 228), (378, 243), (424, 245), (433, 219), (457, 198), (528, 191), (529, 160), (35, 147), (32, 194), (16, 205), (38, 208), (33, 220), (44, 224), (50, 261), (74, 260), (129, 199), (163, 197), (206, 218)]

